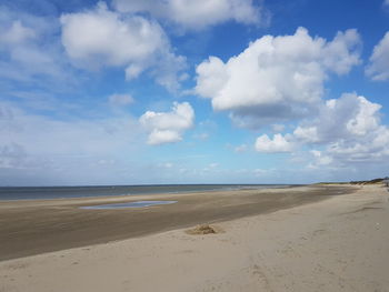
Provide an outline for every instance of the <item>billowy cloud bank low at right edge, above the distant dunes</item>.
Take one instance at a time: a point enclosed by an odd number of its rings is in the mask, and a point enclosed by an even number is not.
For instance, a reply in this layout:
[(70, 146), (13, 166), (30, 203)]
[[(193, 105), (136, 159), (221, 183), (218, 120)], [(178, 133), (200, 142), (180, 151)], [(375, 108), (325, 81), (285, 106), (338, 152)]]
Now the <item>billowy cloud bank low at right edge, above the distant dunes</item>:
[(322, 149), (311, 152), (311, 165), (382, 163), (389, 158), (389, 129), (380, 123), (380, 109), (365, 97), (342, 94), (327, 101), (317, 119), (302, 122), (292, 140)]

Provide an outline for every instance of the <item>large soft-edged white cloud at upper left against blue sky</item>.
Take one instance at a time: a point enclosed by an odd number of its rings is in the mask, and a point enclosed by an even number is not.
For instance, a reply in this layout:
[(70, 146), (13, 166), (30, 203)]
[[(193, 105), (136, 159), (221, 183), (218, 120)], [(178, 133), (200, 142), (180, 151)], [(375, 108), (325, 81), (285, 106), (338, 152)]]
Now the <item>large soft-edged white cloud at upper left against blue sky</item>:
[(149, 70), (158, 83), (177, 89), (186, 59), (176, 56), (162, 28), (140, 16), (110, 11), (104, 2), (63, 14), (62, 43), (76, 66), (98, 70), (123, 67), (128, 80)]

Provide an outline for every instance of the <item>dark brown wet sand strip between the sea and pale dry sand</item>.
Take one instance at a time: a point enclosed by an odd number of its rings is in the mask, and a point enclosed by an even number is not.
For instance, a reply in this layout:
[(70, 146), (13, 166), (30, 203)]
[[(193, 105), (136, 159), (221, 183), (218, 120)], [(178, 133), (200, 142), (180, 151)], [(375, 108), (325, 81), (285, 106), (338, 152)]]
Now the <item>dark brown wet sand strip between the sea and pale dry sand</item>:
[[(275, 190), (0, 201), (0, 261), (269, 213), (351, 193), (353, 190), (351, 187), (311, 185)], [(80, 209), (139, 200), (178, 202), (141, 209)]]

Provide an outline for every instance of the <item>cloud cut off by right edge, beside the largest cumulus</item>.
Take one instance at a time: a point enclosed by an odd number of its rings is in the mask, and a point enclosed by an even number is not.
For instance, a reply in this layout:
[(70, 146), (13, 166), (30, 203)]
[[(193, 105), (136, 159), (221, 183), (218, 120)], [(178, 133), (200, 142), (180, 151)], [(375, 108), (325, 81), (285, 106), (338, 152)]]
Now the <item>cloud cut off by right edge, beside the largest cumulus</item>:
[(375, 47), (366, 74), (372, 80), (389, 80), (389, 31)]

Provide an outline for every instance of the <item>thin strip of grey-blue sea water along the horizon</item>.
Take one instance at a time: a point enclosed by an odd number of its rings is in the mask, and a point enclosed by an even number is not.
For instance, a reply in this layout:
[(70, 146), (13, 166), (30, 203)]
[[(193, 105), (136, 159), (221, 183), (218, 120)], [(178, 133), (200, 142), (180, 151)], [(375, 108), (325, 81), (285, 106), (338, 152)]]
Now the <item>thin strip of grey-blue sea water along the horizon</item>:
[(67, 199), (106, 195), (187, 193), (222, 190), (288, 188), (286, 184), (151, 184), (94, 187), (1, 187), (0, 200)]

